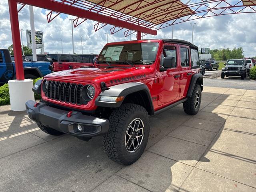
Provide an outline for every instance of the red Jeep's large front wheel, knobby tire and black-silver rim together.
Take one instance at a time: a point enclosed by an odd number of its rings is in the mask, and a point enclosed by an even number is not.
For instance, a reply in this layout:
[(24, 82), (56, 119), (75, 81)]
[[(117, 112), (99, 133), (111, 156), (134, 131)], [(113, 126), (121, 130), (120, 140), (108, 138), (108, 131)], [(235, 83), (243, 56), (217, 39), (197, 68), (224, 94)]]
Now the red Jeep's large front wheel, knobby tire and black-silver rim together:
[(103, 138), (106, 154), (119, 164), (133, 164), (148, 142), (148, 112), (136, 104), (123, 104), (111, 113), (109, 122), (108, 133)]

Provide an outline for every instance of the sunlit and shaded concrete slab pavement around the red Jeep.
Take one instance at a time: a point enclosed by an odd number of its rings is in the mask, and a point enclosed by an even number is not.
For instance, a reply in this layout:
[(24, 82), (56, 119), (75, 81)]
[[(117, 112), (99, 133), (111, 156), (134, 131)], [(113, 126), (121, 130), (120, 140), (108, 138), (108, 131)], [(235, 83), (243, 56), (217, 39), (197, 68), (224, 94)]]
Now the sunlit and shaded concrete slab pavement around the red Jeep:
[(256, 192), (256, 90), (204, 87), (195, 116), (179, 105), (152, 117), (131, 166), (109, 160), (102, 137), (49, 136), (10, 106), (0, 115), (1, 192)]

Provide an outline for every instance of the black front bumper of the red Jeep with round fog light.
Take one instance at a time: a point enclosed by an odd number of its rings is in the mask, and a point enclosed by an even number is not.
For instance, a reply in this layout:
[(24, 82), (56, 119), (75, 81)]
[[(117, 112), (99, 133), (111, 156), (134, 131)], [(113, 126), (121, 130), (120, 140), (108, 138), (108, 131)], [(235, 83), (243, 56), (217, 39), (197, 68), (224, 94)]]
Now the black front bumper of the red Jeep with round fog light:
[[(92, 137), (102, 135), (108, 132), (109, 121), (103, 118), (83, 115), (81, 112), (72, 111), (68, 117), (66, 110), (60, 110), (40, 102), (29, 100), (26, 102), (26, 111), (28, 117), (36, 122), (41, 122), (44, 126), (57, 131), (70, 134), (76, 137)], [(82, 130), (78, 130), (78, 124)]]

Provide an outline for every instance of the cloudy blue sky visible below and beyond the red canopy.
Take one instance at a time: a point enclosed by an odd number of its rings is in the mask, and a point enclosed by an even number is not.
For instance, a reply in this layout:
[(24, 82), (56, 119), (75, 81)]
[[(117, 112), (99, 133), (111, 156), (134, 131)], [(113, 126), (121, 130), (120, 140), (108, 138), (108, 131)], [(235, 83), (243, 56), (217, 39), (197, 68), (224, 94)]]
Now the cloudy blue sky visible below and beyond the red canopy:
[[(12, 44), (7, 0), (0, 0), (0, 10), (0, 48), (7, 48)], [(49, 10), (34, 7), (35, 30), (44, 32), (45, 52), (61, 52), (60, 38), (63, 38), (63, 52), (72, 53), (71, 23), (68, 18), (75, 17), (61, 14), (48, 23), (46, 18), (48, 12)], [(194, 44), (198, 47), (219, 49), (224, 45), (226, 48), (242, 46), (245, 56), (256, 56), (256, 14), (216, 16), (191, 22), (196, 22)], [(19, 24), (20, 29), (30, 29), (27, 5), (19, 13)], [(124, 37), (124, 30), (111, 35), (112, 26), (110, 25), (95, 32), (94, 24), (96, 22), (86, 20), (74, 28), (74, 51), (76, 53), (82, 52), (80, 35), (83, 36), (84, 53), (99, 53), (106, 43), (106, 34), (104, 34), (106, 32), (109, 34), (108, 42), (130, 40), (130, 37)], [(167, 27), (159, 30), (157, 36), (146, 35), (144, 38), (171, 38), (171, 36), (172, 27)], [(191, 41), (191, 36), (190, 22), (174, 25), (174, 38)], [(135, 39), (136, 33), (132, 35), (132, 40)], [(26, 44), (25, 32), (23, 32), (23, 44)]]

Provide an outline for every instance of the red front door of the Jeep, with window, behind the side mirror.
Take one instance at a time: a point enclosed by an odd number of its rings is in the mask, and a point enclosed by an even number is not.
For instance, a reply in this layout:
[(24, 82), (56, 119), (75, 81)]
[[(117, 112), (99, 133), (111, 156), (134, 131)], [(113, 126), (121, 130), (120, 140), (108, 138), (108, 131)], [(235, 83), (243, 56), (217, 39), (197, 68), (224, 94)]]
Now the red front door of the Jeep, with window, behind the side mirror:
[(158, 75), (158, 105), (174, 102), (178, 96), (180, 72), (177, 66), (176, 46), (164, 46), (160, 68), (163, 68), (164, 57), (175, 57), (175, 65)]

